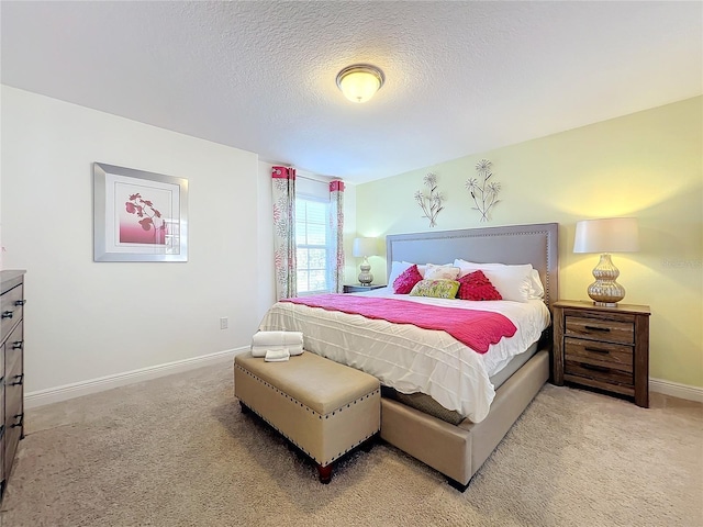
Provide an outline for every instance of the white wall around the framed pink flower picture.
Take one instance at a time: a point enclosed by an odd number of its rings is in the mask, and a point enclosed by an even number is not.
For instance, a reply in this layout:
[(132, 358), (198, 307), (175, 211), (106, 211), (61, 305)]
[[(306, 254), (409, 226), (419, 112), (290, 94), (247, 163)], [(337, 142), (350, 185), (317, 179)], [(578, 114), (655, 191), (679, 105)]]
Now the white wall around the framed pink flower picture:
[[(252, 228), (256, 154), (5, 86), (1, 102), (2, 265), (27, 271), (26, 392), (250, 343), (272, 281), (266, 228)], [(93, 161), (189, 180), (188, 262), (92, 261)]]

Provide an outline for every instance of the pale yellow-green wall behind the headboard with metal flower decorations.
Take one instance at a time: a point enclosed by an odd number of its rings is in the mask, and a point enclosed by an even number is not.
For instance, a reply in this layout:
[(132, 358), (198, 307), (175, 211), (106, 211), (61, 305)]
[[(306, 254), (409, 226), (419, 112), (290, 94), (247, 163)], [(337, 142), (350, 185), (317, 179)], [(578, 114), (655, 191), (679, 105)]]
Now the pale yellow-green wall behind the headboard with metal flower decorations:
[[(598, 255), (574, 255), (579, 220), (636, 216), (640, 248), (615, 255), (626, 303), (651, 307), (650, 377), (703, 386), (703, 98), (596, 123), (357, 187), (364, 236), (429, 231), (414, 201), (435, 172), (446, 197), (435, 229), (560, 224), (563, 299), (587, 299)], [(461, 131), (457, 131), (458, 134)], [(488, 223), (465, 188), (479, 159), (493, 162), (501, 203)], [(370, 259), (384, 276), (384, 260)]]

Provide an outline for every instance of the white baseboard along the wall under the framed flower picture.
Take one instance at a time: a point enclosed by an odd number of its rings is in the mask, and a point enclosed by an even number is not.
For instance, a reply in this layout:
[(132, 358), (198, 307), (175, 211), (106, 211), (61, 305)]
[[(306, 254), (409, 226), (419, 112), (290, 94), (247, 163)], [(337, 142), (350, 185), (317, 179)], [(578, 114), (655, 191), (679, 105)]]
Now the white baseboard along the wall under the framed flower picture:
[(68, 399), (79, 397), (91, 393), (111, 390), (134, 382), (148, 381), (159, 377), (180, 373), (182, 371), (194, 370), (203, 366), (215, 365), (234, 360), (234, 356), (247, 351), (249, 347), (237, 349), (225, 349), (215, 354), (193, 357), (191, 359), (177, 360), (165, 365), (150, 366), (138, 370), (125, 371), (114, 375), (100, 377), (98, 379), (89, 379), (87, 381), (64, 384), (63, 386), (49, 388), (46, 390), (37, 390), (24, 394), (24, 407), (35, 408), (45, 404), (57, 403)]

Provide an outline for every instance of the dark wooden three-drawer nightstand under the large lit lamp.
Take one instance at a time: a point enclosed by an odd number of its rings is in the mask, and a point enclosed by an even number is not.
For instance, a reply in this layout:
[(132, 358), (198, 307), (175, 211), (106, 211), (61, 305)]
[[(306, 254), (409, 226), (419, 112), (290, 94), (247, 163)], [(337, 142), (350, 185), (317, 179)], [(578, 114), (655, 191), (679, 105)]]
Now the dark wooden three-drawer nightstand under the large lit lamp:
[(553, 382), (634, 397), (649, 407), (649, 306), (554, 304)]

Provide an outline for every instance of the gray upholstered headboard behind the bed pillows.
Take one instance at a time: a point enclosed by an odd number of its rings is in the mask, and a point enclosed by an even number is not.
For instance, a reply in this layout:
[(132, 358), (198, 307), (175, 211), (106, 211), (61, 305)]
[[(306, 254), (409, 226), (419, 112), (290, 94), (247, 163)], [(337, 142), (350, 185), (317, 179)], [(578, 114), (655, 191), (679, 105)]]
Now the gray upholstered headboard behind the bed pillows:
[(559, 299), (557, 223), (391, 234), (386, 237), (388, 274), (393, 261), (447, 264), (462, 258), (478, 264), (532, 264), (545, 285), (545, 302)]

